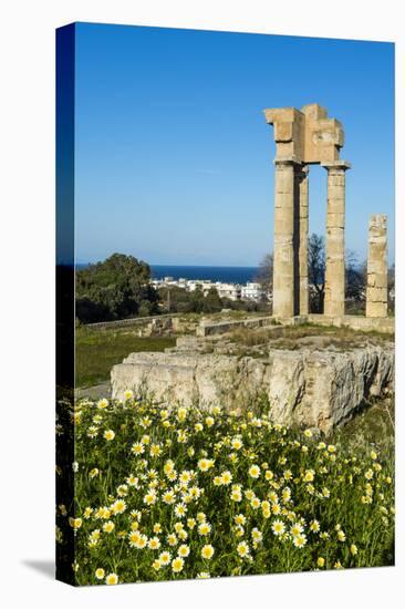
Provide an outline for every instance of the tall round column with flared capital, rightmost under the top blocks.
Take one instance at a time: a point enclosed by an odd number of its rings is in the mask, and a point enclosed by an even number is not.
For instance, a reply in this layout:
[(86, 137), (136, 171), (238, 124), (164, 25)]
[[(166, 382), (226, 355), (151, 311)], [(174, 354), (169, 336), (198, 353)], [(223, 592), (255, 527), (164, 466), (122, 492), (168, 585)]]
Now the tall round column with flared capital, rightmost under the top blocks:
[(344, 316), (344, 216), (346, 161), (322, 163), (328, 169), (324, 314)]

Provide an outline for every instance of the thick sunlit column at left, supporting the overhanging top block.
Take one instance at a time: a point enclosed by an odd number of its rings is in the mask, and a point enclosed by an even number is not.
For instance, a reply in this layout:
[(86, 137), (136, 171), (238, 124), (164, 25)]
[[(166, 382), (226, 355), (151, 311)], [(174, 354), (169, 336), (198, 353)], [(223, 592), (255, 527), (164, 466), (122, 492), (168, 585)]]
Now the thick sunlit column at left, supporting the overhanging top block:
[(294, 314), (294, 162), (276, 159), (273, 316)]

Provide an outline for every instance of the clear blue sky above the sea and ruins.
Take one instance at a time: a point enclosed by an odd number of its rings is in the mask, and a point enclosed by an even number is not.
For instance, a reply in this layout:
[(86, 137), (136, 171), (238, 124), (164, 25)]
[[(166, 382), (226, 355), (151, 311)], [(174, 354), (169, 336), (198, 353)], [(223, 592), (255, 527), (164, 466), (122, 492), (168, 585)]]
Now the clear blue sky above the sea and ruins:
[[(76, 25), (77, 261), (256, 266), (272, 250), (266, 107), (319, 103), (345, 131), (346, 247), (388, 215), (394, 259), (394, 45), (127, 25)], [(326, 172), (310, 169), (324, 234)]]

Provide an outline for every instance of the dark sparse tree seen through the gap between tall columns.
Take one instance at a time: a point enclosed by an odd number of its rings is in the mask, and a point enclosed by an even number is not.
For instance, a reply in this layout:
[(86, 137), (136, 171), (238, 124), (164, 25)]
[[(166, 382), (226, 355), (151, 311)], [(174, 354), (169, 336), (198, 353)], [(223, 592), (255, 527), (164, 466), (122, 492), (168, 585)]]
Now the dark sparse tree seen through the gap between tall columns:
[(312, 233), (308, 241), (308, 281), (310, 311), (323, 312), (325, 295), (325, 240)]

